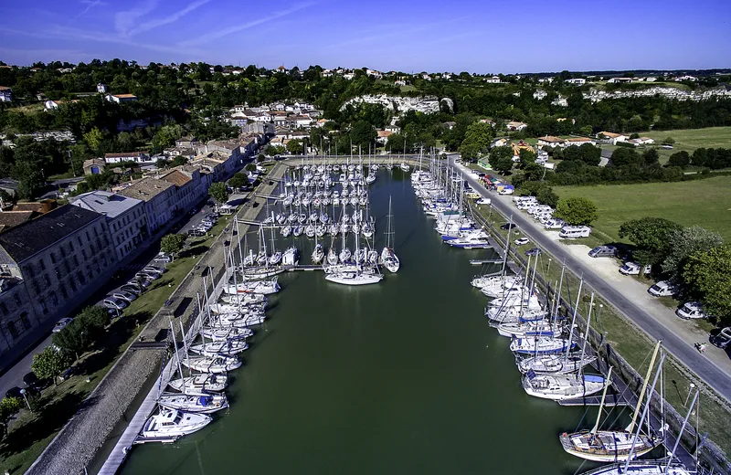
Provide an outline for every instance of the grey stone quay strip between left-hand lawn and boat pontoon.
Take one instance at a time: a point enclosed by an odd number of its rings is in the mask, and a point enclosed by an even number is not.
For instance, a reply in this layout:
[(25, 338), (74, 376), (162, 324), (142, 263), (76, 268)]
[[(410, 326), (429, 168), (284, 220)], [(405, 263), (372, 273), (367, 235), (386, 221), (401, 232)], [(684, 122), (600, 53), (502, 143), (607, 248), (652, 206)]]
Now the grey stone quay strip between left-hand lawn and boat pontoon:
[[(271, 195), (276, 188), (277, 180), (284, 174), (286, 166), (277, 164), (265, 177), (257, 190), (256, 195)], [(269, 185), (270, 180), (273, 184)], [(261, 205), (261, 201), (260, 205)], [(254, 207), (257, 202), (254, 195), (245, 203), (234, 216), (241, 220), (251, 221), (259, 215), (261, 206)], [(228, 218), (230, 223), (233, 217)], [(203, 290), (204, 276), (207, 269), (213, 270), (212, 275), (223, 273), (224, 247), (230, 243), (231, 248), (238, 247), (238, 239), (232, 237), (235, 226), (230, 224), (214, 242), (198, 264), (191, 269), (185, 279), (173, 291), (163, 309), (158, 311), (147, 323), (140, 339), (152, 341), (161, 330), (170, 328), (171, 320), (175, 330), (185, 326), (187, 320), (196, 308), (196, 293)], [(239, 226), (240, 232), (245, 227)], [(132, 345), (122, 354), (110, 372), (104, 376), (101, 383), (89, 397), (81, 404), (79, 411), (69, 420), (67, 425), (58, 432), (48, 447), (41, 453), (36, 462), (26, 471), (26, 475), (79, 475), (90, 465), (102, 445), (110, 438), (118, 438), (122, 431), (114, 434), (124, 417), (124, 413), (131, 408), (132, 403), (148, 382), (149, 378), (160, 372), (164, 364), (166, 352), (155, 350), (135, 350)], [(138, 404), (140, 401), (137, 401)], [(123, 430), (123, 429), (122, 429)]]

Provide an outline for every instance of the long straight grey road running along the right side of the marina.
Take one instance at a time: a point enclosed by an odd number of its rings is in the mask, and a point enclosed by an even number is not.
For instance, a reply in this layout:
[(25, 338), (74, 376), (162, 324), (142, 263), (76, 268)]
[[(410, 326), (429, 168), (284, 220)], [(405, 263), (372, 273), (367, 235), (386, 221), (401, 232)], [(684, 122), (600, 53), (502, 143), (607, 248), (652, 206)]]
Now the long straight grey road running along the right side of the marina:
[[(450, 163), (454, 164), (455, 157), (450, 157)], [(562, 245), (551, 240), (542, 232), (536, 232), (533, 222), (529, 221), (524, 214), (504, 202), (495, 199), (498, 195), (493, 194), (480, 185), (478, 178), (469, 173), (469, 169), (456, 165), (455, 169), (460, 171), (465, 180), (470, 183), (475, 191), (485, 197), (492, 198), (493, 208), (497, 209), (503, 216), (513, 215), (513, 221), (521, 229), (521, 232), (537, 243), (541, 248), (556, 257), (558, 261), (566, 261), (567, 269), (576, 275), (583, 275), (584, 281), (594, 289), (606, 301), (609, 301), (630, 321), (637, 324), (644, 332), (647, 332), (653, 339), (662, 340), (663, 347), (683, 362), (704, 380), (706, 385), (711, 386), (715, 391), (724, 396), (726, 401), (731, 402), (731, 375), (723, 368), (717, 366), (705, 356), (699, 354), (694, 346), (683, 341), (673, 331), (668, 329), (651, 313), (645, 311), (635, 302), (625, 297), (620, 290), (616, 289), (609, 282), (602, 279), (593, 269), (574, 258)]]

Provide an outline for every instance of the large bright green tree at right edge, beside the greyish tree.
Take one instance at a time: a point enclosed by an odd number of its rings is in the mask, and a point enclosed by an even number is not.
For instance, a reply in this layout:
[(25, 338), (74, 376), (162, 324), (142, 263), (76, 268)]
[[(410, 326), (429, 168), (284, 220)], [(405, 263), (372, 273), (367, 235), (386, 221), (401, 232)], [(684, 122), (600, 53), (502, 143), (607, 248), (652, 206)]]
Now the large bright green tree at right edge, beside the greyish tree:
[(683, 280), (700, 297), (707, 314), (731, 323), (731, 246), (694, 252), (683, 267)]

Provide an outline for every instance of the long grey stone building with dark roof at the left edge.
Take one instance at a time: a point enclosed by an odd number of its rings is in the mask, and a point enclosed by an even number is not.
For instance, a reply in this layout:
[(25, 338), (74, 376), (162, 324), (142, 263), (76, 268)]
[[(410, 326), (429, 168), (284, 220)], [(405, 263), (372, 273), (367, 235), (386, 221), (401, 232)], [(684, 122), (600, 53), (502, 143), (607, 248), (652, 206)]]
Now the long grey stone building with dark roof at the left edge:
[(25, 351), (110, 279), (116, 264), (104, 216), (78, 206), (0, 234), (0, 354)]

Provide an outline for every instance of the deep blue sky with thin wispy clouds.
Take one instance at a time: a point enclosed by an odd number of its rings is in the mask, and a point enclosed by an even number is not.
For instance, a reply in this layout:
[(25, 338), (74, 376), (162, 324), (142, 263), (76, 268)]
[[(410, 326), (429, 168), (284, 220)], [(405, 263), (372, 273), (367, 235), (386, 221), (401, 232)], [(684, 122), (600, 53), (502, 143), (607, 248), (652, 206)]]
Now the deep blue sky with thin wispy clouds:
[(728, 0), (4, 0), (0, 59), (540, 72), (731, 67)]

